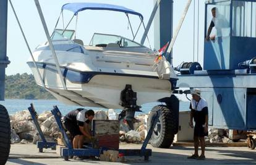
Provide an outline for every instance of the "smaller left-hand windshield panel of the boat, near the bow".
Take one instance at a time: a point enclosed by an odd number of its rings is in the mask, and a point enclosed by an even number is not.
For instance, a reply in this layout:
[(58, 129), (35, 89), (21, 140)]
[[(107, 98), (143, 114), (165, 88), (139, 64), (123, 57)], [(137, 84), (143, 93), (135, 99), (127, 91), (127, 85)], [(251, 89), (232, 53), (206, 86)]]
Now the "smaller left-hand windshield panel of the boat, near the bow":
[(53, 32), (53, 35), (51, 35), (51, 40), (71, 40), (75, 31), (74, 30), (65, 30), (63, 33), (63, 30), (61, 29), (55, 29)]

